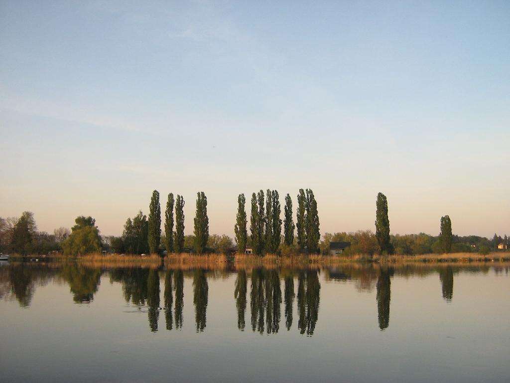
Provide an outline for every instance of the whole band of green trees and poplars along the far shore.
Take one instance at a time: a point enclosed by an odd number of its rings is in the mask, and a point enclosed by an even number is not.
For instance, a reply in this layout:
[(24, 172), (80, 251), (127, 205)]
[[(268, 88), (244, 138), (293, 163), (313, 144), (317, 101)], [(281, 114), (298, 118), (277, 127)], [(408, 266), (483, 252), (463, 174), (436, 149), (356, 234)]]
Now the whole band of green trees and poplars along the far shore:
[[(285, 196), (283, 221), (277, 190), (260, 190), (251, 195), (251, 211), (246, 213), (246, 198), (240, 194), (234, 226), (238, 253), (251, 249), (254, 254), (292, 255), (296, 253), (329, 253), (331, 242), (350, 242), (345, 251), (349, 254), (426, 254), (450, 252), (489, 253), (502, 247), (510, 249), (510, 238), (494, 234), (492, 240), (485, 237), (452, 234), (449, 216), (441, 217), (440, 233), (432, 236), (420, 234), (391, 234), (388, 216), (388, 200), (379, 193), (376, 198), (375, 233), (370, 230), (356, 232), (324, 233), (320, 241), (317, 201), (311, 189), (299, 189), (296, 214), (292, 198)], [(61, 251), (69, 255), (81, 255), (101, 250), (115, 253), (143, 254), (181, 253), (183, 251), (204, 253), (227, 253), (234, 251), (234, 240), (227, 235), (209, 234), (209, 217), (205, 193), (197, 193), (193, 234), (185, 235), (183, 196), (168, 194), (161, 219), (160, 194), (152, 192), (148, 218), (140, 210), (134, 218), (127, 218), (121, 236), (101, 236), (92, 217), (80, 216), (71, 230), (61, 227), (53, 234), (38, 231), (34, 214), (22, 213), (20, 218), (0, 218), (0, 251), (17, 254), (47, 254)], [(295, 217), (295, 221), (294, 221)], [(161, 225), (164, 224), (162, 233)], [(282, 235), (283, 227), (283, 235)], [(320, 241), (320, 242), (319, 242)]]

